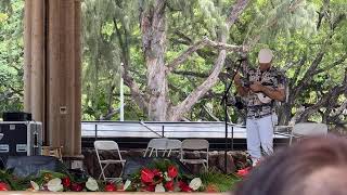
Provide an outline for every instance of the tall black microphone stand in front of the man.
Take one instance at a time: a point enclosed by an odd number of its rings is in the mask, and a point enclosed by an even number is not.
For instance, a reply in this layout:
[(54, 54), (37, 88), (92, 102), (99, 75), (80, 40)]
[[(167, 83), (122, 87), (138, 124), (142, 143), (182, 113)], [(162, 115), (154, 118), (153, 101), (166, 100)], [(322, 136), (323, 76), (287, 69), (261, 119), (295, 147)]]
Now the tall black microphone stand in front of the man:
[[(243, 61), (246, 61), (245, 57), (243, 58), (240, 58), (237, 60), (236, 62), (239, 62), (239, 65), (236, 67), (236, 72), (232, 75), (232, 78), (231, 78), (231, 81), (228, 86), (228, 82), (226, 82), (226, 88), (224, 88), (224, 93), (223, 93), (223, 96), (221, 98), (221, 102), (220, 102), (220, 105), (223, 105), (223, 108), (224, 108), (224, 125), (226, 125), (226, 138), (224, 138), (224, 173), (227, 174), (227, 166), (228, 166), (228, 162), (227, 162), (227, 152), (228, 152), (228, 94), (229, 94), (229, 91), (232, 87), (232, 82), (236, 76), (236, 74), (239, 73), (239, 69), (241, 68), (241, 65), (242, 65), (242, 62)], [(231, 150), (233, 151), (234, 150), (234, 128), (232, 127), (231, 128)]]

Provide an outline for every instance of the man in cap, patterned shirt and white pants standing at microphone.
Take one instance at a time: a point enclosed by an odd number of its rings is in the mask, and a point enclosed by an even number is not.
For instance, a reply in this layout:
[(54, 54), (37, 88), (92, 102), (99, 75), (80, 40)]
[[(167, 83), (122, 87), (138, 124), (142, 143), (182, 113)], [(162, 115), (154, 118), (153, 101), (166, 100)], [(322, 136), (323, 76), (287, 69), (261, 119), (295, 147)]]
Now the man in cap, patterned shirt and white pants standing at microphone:
[(285, 78), (271, 67), (272, 51), (261, 49), (258, 54), (259, 67), (249, 68), (245, 78), (236, 74), (234, 83), (237, 93), (244, 98), (247, 106), (247, 151), (253, 165), (261, 158), (260, 146), (266, 155), (273, 152), (274, 101), (285, 100)]

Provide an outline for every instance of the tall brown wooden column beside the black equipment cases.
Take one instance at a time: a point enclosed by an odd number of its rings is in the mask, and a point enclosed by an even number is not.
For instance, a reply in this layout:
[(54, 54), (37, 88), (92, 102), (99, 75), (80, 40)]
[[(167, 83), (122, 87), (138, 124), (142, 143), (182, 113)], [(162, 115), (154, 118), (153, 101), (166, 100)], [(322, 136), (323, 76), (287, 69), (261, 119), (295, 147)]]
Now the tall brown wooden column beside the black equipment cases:
[(25, 3), (25, 110), (44, 123), (46, 142), (63, 146), (63, 156), (81, 152), (80, 20), (80, 0)]

